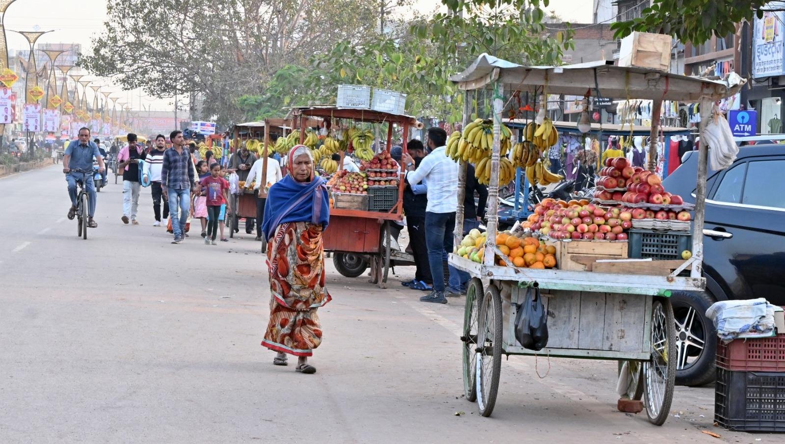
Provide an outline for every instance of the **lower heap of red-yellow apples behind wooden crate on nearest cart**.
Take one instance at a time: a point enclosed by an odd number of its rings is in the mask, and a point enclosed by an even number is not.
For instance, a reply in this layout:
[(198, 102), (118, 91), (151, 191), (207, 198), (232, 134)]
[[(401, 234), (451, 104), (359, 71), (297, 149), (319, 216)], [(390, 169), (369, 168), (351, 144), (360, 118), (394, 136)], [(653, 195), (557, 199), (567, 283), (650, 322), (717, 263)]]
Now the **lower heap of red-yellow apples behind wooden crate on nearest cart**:
[(632, 219), (629, 209), (597, 206), (585, 199), (546, 198), (523, 225), (553, 239), (626, 241)]

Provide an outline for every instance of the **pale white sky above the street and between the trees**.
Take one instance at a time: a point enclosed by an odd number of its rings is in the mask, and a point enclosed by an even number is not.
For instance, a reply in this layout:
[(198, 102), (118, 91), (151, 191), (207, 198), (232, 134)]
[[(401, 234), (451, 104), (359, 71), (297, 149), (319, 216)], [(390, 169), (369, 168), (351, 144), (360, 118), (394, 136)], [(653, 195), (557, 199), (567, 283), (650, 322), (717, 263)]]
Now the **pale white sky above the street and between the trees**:
[[(439, 4), (437, 0), (414, 1), (415, 8), (423, 13)], [(551, 0), (547, 8), (573, 23), (590, 23), (591, 9), (591, 0)], [(16, 0), (5, 12), (5, 36), (9, 49), (27, 49), (27, 40), (12, 31), (52, 30), (38, 38), (38, 43), (79, 43), (82, 52), (89, 52), (92, 38), (101, 31), (105, 19), (106, 0)], [(111, 78), (103, 79), (102, 84), (111, 85)], [(173, 109), (171, 99), (155, 99), (141, 90), (109, 89), (115, 91), (114, 96), (124, 97), (133, 109), (141, 109), (140, 104), (154, 110)]]

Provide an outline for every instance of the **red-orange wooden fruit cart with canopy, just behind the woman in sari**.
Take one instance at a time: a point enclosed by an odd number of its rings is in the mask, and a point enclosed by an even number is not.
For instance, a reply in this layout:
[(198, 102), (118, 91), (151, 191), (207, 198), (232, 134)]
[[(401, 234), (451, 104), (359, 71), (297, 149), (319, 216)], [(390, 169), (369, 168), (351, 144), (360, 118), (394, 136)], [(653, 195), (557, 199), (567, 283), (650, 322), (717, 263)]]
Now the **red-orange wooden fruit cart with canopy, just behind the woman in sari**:
[[(406, 151), (406, 136), (411, 127), (422, 128), (422, 123), (408, 115), (396, 115), (371, 109), (341, 108), (333, 106), (298, 107), (290, 113), (293, 125), (300, 129), (300, 142), (305, 140), (305, 129), (309, 127), (307, 118), (330, 119), (335, 122), (355, 122), (387, 125), (387, 144), (385, 151), (392, 146), (392, 129), (398, 126), (403, 130), (403, 152)], [(340, 151), (338, 168), (343, 168), (344, 151)], [(399, 173), (398, 197), (389, 211), (367, 211), (363, 209), (330, 208), (330, 225), (324, 232), (324, 249), (334, 253), (334, 261), (359, 265), (353, 268), (365, 270), (360, 261), (367, 260), (371, 265), (371, 283), (387, 288), (389, 268), (394, 265), (414, 264), (414, 258), (406, 253), (392, 249), (393, 221), (403, 220), (403, 175)], [(353, 274), (357, 276), (359, 274)], [(352, 276), (353, 277), (353, 276)]]

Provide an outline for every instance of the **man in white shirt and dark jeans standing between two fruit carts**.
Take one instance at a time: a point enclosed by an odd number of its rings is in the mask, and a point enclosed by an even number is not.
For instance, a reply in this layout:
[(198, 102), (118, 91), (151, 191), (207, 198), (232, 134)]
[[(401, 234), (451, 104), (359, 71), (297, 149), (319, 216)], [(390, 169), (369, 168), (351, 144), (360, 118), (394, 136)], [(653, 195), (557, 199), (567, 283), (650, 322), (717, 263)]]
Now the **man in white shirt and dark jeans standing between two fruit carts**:
[(444, 297), (444, 252), (452, 253), (452, 232), (455, 229), (455, 209), (458, 208), (458, 164), (448, 158), (445, 150), (447, 133), (441, 128), (428, 129), (431, 152), (414, 169), (414, 160), (404, 154), (406, 180), (416, 185), (428, 182), (428, 206), (425, 207), (425, 243), (433, 278), (433, 292), (421, 297), (423, 302), (447, 304)]

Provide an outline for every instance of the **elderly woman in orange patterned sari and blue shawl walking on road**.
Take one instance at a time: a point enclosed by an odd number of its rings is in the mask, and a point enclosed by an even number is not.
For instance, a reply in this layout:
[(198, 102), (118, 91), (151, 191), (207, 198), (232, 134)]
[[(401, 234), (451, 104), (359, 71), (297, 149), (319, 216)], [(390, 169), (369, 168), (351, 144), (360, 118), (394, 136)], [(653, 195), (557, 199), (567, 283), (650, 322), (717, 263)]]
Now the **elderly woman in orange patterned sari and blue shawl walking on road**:
[(301, 373), (316, 373), (308, 357), (322, 342), (316, 310), (330, 301), (324, 287), (322, 233), (330, 219), (327, 187), (313, 168), (305, 145), (289, 153), (288, 174), (270, 187), (262, 231), (268, 241), (270, 321), (261, 344), (278, 355), (272, 363), (287, 365), (298, 356)]

